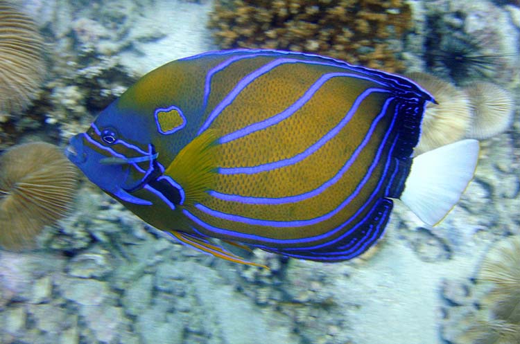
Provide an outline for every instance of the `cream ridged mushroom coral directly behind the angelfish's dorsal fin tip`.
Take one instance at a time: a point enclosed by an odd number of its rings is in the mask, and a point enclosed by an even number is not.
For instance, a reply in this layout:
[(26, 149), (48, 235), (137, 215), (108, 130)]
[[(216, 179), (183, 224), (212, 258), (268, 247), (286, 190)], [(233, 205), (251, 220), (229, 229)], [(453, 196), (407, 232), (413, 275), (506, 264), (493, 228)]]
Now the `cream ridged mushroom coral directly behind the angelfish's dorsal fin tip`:
[(466, 93), (449, 82), (427, 73), (410, 73), (408, 78), (430, 92), (438, 104), (429, 103), (424, 111), (422, 134), (415, 154), (459, 141), (471, 121)]

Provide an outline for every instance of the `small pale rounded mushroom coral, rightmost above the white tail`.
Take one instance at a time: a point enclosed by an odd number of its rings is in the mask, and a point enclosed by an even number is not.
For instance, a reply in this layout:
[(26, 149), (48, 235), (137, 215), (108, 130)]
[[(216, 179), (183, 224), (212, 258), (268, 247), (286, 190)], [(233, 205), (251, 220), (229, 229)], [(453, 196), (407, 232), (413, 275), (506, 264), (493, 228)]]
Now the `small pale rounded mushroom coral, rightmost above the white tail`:
[(509, 91), (491, 82), (475, 82), (465, 91), (473, 111), (468, 137), (490, 138), (508, 129), (514, 114)]

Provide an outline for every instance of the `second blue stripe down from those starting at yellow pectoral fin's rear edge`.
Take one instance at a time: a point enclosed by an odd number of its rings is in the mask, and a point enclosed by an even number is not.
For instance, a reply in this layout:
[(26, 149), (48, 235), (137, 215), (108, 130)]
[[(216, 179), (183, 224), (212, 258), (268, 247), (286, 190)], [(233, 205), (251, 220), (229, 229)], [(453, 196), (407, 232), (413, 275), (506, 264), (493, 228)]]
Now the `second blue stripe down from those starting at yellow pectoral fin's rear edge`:
[(310, 145), (301, 153), (296, 154), (295, 156), (287, 159), (281, 159), (278, 161), (272, 161), (271, 163), (264, 163), (262, 165), (256, 165), (256, 166), (245, 166), (241, 168), (218, 168), (218, 173), (220, 174), (256, 174), (259, 172), (265, 172), (269, 170), (276, 170), (277, 168), (283, 168), (289, 165), (294, 165), (295, 163), (299, 163), (300, 161), (308, 158), (315, 152), (317, 152), (321, 147), (323, 147), (326, 143), (328, 143), (334, 136), (339, 134), (341, 130), (349, 123), (349, 121), (352, 119), (354, 114), (358, 111), (358, 107), (365, 98), (370, 96), (372, 92), (389, 92), (385, 89), (366, 89), (361, 93), (361, 96), (358, 96), (356, 98), (356, 101), (352, 105), (352, 107), (349, 109), (347, 114), (345, 114), (345, 117), (336, 125), (336, 127), (333, 127), (327, 134), (322, 136), (318, 141)]

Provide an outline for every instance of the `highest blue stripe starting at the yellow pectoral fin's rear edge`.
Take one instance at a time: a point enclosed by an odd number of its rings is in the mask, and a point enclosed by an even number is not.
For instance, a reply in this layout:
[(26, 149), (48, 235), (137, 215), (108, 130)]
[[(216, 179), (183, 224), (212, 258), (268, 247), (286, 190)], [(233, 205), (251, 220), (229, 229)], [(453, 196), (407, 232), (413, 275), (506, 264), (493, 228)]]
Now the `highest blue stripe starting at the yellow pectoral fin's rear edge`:
[[(316, 92), (329, 80), (332, 78), (338, 78), (338, 77), (353, 77), (355, 78), (356, 75), (351, 73), (328, 73), (322, 75), (318, 80), (316, 80), (307, 91), (305, 91), (304, 95), (300, 97), (296, 102), (293, 103), (290, 107), (285, 109), (284, 111), (281, 111), (279, 114), (276, 114), (275, 116), (272, 116), (270, 118), (267, 118), (266, 120), (261, 120), (260, 122), (254, 123), (252, 125), (248, 125), (247, 127), (243, 127), (242, 129), (237, 130), (236, 132), (229, 133), (222, 138), (218, 140), (218, 143), (228, 143), (230, 141), (234, 141), (237, 138), (242, 138), (244, 136), (248, 136), (249, 134), (252, 134), (254, 132), (258, 132), (262, 129), (266, 129), (268, 127), (272, 127), (273, 125), (277, 125), (282, 120), (285, 120), (286, 118), (291, 117), (296, 111), (300, 110), (303, 105), (306, 104), (311, 98), (314, 96)], [(370, 80), (369, 78), (359, 78), (358, 79), (365, 79)], [(372, 88), (370, 88), (372, 89)], [(377, 90), (377, 89), (375, 89)], [(388, 92), (388, 91), (387, 91)], [(363, 95), (363, 93), (362, 93)], [(355, 103), (354, 103), (355, 104)], [(354, 106), (354, 105), (353, 105)]]

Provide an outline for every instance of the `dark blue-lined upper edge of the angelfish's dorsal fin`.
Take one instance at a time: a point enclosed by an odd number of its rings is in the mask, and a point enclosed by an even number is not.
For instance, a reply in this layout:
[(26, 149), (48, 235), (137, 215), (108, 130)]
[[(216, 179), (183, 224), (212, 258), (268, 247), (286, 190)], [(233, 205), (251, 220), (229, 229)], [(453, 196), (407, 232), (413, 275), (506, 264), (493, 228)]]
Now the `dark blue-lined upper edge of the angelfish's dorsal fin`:
[[(431, 96), (431, 94), (428, 92), (428, 90), (423, 89), (419, 84), (416, 84), (413, 80), (410, 80), (404, 76), (394, 75), (392, 73), (379, 71), (377, 69), (370, 69), (368, 67), (356, 66), (354, 64), (349, 64), (348, 62), (345, 62), (342, 60), (336, 60), (332, 57), (320, 56), (320, 55), (315, 55), (315, 54), (310, 54), (310, 53), (300, 53), (300, 52), (296, 52), (296, 51), (279, 51), (279, 50), (274, 50), (274, 49), (245, 49), (245, 48), (240, 49), (239, 48), (239, 49), (228, 50), (228, 51), (208, 51), (206, 53), (200, 53), (198, 55), (184, 57), (180, 60), (188, 61), (188, 60), (196, 60), (198, 58), (206, 57), (206, 56), (211, 57), (211, 56), (215, 56), (215, 55), (223, 56), (223, 55), (234, 55), (234, 54), (248, 54), (248, 55), (252, 55), (254, 57), (256, 57), (257, 55), (262, 55), (262, 56), (272, 55), (273, 57), (278, 57), (278, 58), (281, 58), (281, 56), (295, 55), (295, 56), (302, 56), (302, 57), (317, 58), (317, 59), (324, 60), (324, 61), (331, 61), (331, 63), (325, 64), (324, 62), (322, 62), (322, 64), (329, 65), (329, 66), (336, 66), (338, 68), (343, 68), (343, 69), (349, 69), (351, 71), (357, 71), (358, 73), (363, 73), (366, 75), (372, 75), (373, 78), (381, 78), (381, 80), (386, 80), (390, 87), (395, 87), (392, 85), (399, 85), (400, 87), (404, 87), (404, 89), (405, 89), (404, 91), (406, 91), (406, 89), (409, 89), (409, 91), (407, 91), (407, 92), (417, 94), (417, 96), (420, 99), (426, 99), (431, 102), (435, 102), (435, 99), (433, 98), (433, 96)], [(308, 62), (306, 60), (301, 60), (301, 61)], [(401, 81), (404, 81), (404, 83), (402, 83)], [(421, 96), (420, 93), (423, 93), (423, 96)], [(426, 97), (424, 97), (424, 96), (426, 96)]]

